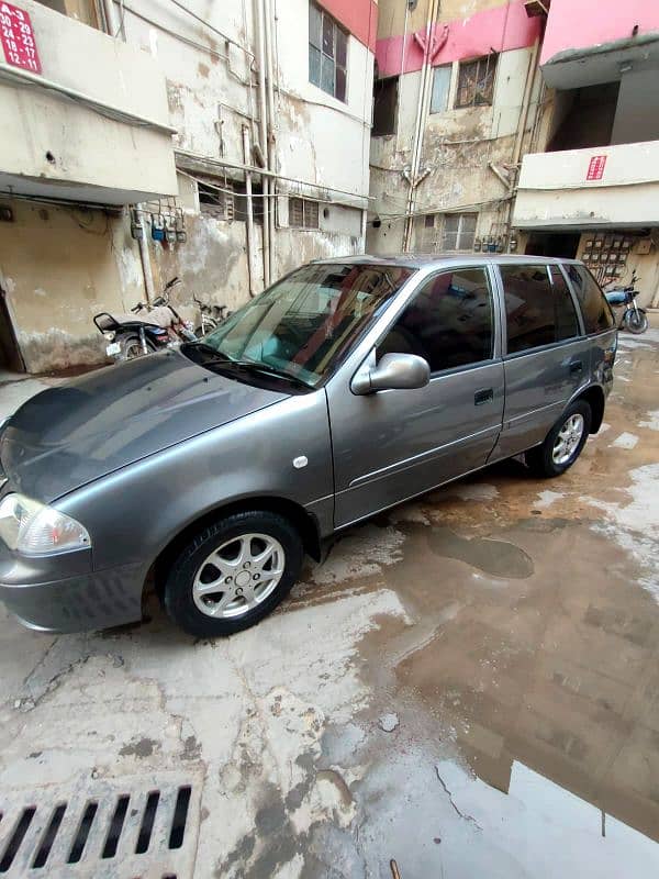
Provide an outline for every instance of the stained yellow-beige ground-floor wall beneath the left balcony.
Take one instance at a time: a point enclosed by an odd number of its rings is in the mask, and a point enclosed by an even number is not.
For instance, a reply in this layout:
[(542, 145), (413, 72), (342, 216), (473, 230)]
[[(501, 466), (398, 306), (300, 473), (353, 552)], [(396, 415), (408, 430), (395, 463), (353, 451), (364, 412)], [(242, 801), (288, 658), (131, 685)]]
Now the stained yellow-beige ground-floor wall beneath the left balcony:
[(0, 229), (0, 286), (25, 367), (41, 372), (101, 363), (99, 311), (143, 299), (139, 255), (121, 216), (7, 201)]

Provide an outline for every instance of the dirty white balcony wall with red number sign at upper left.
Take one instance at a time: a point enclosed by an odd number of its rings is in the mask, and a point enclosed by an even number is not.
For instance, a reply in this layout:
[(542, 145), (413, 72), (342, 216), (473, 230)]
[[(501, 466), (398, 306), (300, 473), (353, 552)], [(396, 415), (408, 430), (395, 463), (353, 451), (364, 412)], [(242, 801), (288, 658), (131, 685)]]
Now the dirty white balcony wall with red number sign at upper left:
[(1, 22), (0, 194), (91, 204), (175, 194), (157, 63), (41, 3), (18, 2), (19, 14), (4, 11)]

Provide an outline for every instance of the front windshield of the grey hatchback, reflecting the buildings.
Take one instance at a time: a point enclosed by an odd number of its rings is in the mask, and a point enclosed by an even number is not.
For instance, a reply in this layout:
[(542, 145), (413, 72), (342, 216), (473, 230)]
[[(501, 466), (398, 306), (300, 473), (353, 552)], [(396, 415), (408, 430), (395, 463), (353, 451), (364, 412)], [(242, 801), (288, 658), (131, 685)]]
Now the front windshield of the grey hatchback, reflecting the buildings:
[(253, 368), (314, 387), (413, 274), (400, 266), (304, 266), (186, 347), (197, 348), (203, 365)]

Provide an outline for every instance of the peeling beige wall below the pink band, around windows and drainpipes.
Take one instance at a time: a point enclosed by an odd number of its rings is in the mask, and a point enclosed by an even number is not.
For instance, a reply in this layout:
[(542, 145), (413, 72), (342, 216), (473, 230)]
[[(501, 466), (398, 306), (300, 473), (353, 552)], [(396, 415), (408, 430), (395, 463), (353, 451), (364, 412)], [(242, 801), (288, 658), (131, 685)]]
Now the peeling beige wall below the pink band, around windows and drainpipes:
[[(512, 49), (499, 56), (492, 107), (455, 109), (459, 63), (451, 65), (447, 109), (431, 113), (424, 108), (424, 138), (421, 170), (429, 169), (418, 185), (414, 211), (415, 249), (421, 248), (423, 214), (470, 211), (479, 214), (477, 236), (499, 237), (505, 232), (507, 187), (491, 169), (494, 165), (504, 177), (513, 160), (521, 121), (526, 77), (532, 63), (530, 47)], [(379, 229), (369, 225), (369, 253), (392, 253), (403, 245), (404, 212), (409, 182), (403, 170), (412, 157), (414, 120), (421, 82), (420, 73), (400, 79), (398, 130), (393, 135), (371, 140), (371, 205), (381, 221)], [(429, 97), (429, 96), (428, 96)], [(544, 121), (539, 136), (546, 136), (547, 120), (540, 104), (537, 78), (530, 94), (524, 144), (529, 144), (536, 122)]]

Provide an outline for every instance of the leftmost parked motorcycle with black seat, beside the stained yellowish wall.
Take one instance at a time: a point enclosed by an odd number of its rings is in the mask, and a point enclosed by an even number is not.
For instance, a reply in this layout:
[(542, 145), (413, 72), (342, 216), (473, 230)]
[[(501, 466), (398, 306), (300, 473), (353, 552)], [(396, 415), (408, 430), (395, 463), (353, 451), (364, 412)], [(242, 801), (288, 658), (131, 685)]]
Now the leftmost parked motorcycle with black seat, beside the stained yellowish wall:
[(138, 302), (131, 313), (138, 315), (134, 320), (122, 319), (101, 311), (93, 322), (97, 330), (105, 337), (105, 354), (116, 360), (131, 360), (179, 342), (196, 342), (191, 325), (183, 321), (169, 301), (169, 291), (180, 283), (180, 278), (167, 282), (161, 296), (155, 299), (149, 309)]

